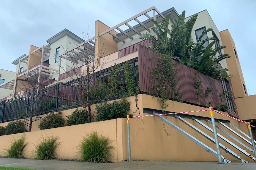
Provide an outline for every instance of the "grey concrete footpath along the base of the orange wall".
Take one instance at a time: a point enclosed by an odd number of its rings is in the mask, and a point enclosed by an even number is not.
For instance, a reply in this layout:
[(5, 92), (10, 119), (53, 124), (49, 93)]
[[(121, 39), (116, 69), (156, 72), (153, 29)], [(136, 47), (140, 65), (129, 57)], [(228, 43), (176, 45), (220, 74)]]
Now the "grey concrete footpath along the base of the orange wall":
[[(165, 161), (123, 161), (116, 163), (88, 163), (74, 161), (35, 160), (0, 158), (0, 166), (31, 168), (38, 170), (241, 170), (256, 169), (256, 163), (209, 163), (209, 162), (165, 162)], [(1, 169), (1, 167), (0, 167)]]

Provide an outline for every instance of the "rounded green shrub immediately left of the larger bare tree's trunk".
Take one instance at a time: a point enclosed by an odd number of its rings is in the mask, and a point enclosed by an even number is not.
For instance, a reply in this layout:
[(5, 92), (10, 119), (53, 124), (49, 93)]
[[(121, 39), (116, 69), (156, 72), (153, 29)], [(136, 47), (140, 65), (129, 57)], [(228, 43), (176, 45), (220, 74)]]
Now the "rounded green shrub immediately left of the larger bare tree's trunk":
[(88, 123), (88, 111), (86, 109), (75, 109), (71, 115), (66, 116), (67, 126)]

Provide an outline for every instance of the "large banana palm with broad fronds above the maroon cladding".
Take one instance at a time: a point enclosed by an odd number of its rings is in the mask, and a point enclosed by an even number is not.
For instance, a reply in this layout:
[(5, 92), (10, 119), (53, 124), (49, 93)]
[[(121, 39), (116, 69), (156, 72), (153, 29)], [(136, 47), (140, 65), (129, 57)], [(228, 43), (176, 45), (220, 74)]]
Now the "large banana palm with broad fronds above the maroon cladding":
[[(168, 28), (170, 13), (166, 14), (161, 25), (157, 21), (152, 20), (155, 27), (152, 27), (152, 33), (143, 33), (140, 39), (149, 39), (152, 41), (152, 50), (159, 52), (160, 54), (165, 54), (171, 59), (175, 59), (182, 64), (185, 64), (197, 71), (217, 78), (221, 75), (222, 79), (227, 77), (232, 77), (227, 74), (228, 69), (223, 69), (220, 66), (220, 62), (223, 59), (229, 58), (228, 54), (220, 54), (217, 56), (217, 52), (226, 46), (218, 46), (213, 48), (216, 42), (216, 38), (208, 37), (201, 41), (203, 36), (211, 28), (204, 30), (197, 42), (193, 42), (191, 35), (193, 31), (193, 26), (197, 20), (197, 14), (192, 15), (187, 22), (185, 22), (185, 11), (183, 11), (178, 20), (174, 20), (174, 25), (172, 29)], [(205, 47), (205, 43), (209, 42), (208, 46)]]

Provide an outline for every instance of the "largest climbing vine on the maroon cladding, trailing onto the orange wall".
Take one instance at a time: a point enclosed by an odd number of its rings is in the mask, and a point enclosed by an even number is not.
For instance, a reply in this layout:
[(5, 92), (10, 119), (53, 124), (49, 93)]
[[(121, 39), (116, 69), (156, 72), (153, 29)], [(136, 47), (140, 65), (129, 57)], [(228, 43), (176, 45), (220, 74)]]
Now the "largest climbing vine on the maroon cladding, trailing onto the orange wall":
[(170, 56), (159, 55), (157, 66), (151, 69), (150, 78), (153, 82), (152, 89), (161, 99), (162, 112), (169, 106), (167, 100), (181, 101), (182, 93), (178, 90), (177, 68)]

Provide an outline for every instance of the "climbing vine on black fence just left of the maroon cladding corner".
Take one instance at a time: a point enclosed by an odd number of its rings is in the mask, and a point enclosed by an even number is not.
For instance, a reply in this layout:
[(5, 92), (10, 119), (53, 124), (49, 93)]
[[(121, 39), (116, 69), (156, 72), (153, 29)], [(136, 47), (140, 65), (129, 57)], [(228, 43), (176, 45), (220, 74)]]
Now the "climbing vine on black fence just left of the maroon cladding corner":
[(139, 70), (133, 71), (132, 63), (126, 61), (123, 65), (124, 69), (124, 82), (126, 84), (126, 89), (129, 95), (135, 95), (135, 103), (136, 103), (136, 110), (133, 113), (139, 112), (140, 116), (140, 108), (138, 107), (138, 94), (140, 92), (140, 85), (139, 79), (137, 80), (136, 77), (139, 75)]

